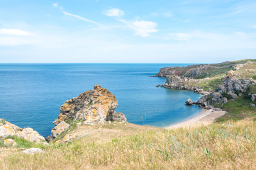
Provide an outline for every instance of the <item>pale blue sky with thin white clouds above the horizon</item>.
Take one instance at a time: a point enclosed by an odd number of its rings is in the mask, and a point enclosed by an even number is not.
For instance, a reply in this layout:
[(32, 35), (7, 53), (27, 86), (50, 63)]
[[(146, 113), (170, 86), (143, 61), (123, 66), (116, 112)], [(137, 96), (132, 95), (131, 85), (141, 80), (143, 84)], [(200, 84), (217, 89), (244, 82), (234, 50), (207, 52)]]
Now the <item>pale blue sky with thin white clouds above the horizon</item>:
[(0, 0), (0, 63), (256, 58), (255, 0)]

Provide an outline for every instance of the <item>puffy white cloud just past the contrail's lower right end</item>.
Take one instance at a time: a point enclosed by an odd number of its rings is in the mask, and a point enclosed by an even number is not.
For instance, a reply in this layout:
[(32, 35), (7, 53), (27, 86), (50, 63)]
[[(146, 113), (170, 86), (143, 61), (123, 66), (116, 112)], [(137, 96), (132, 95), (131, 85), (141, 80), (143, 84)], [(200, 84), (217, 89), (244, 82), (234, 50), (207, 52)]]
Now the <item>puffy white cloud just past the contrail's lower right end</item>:
[(135, 21), (129, 27), (135, 30), (135, 35), (140, 35), (143, 38), (148, 37), (150, 33), (158, 32), (156, 29), (157, 23), (152, 21)]

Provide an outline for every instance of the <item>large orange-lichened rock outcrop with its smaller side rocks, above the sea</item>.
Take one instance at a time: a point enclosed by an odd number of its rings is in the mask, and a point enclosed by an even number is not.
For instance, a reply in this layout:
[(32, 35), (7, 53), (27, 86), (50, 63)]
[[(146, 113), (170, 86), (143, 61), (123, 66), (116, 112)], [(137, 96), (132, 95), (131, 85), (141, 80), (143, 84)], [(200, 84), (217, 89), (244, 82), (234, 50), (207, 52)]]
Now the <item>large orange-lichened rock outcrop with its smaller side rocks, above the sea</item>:
[(69, 128), (69, 124), (65, 123), (67, 120), (82, 120), (83, 124), (102, 123), (108, 120), (125, 122), (125, 115), (114, 111), (117, 106), (116, 96), (96, 85), (93, 90), (66, 101), (60, 107), (60, 115), (53, 122), (55, 128), (47, 139), (52, 140), (67, 130)]

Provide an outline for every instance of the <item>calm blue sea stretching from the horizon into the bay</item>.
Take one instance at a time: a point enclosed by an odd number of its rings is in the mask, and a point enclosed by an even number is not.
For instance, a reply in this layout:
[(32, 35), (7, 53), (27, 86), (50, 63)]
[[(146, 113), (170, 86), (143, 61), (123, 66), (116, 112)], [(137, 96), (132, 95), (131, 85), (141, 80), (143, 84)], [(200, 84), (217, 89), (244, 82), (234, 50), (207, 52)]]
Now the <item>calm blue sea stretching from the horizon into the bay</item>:
[(187, 64), (0, 64), (0, 118), (50, 135), (60, 106), (95, 84), (118, 99), (116, 111), (128, 122), (163, 127), (199, 114), (193, 91), (156, 87), (165, 78), (149, 77), (160, 68)]

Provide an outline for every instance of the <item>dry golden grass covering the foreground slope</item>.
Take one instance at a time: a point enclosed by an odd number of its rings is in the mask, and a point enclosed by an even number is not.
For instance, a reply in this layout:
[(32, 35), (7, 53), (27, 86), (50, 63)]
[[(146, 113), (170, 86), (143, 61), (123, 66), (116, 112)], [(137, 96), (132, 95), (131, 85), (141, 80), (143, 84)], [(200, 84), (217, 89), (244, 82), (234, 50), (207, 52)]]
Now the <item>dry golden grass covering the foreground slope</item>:
[(6, 151), (0, 169), (252, 169), (255, 155), (256, 123), (241, 120), (145, 130), (108, 142), (83, 137), (42, 154)]

